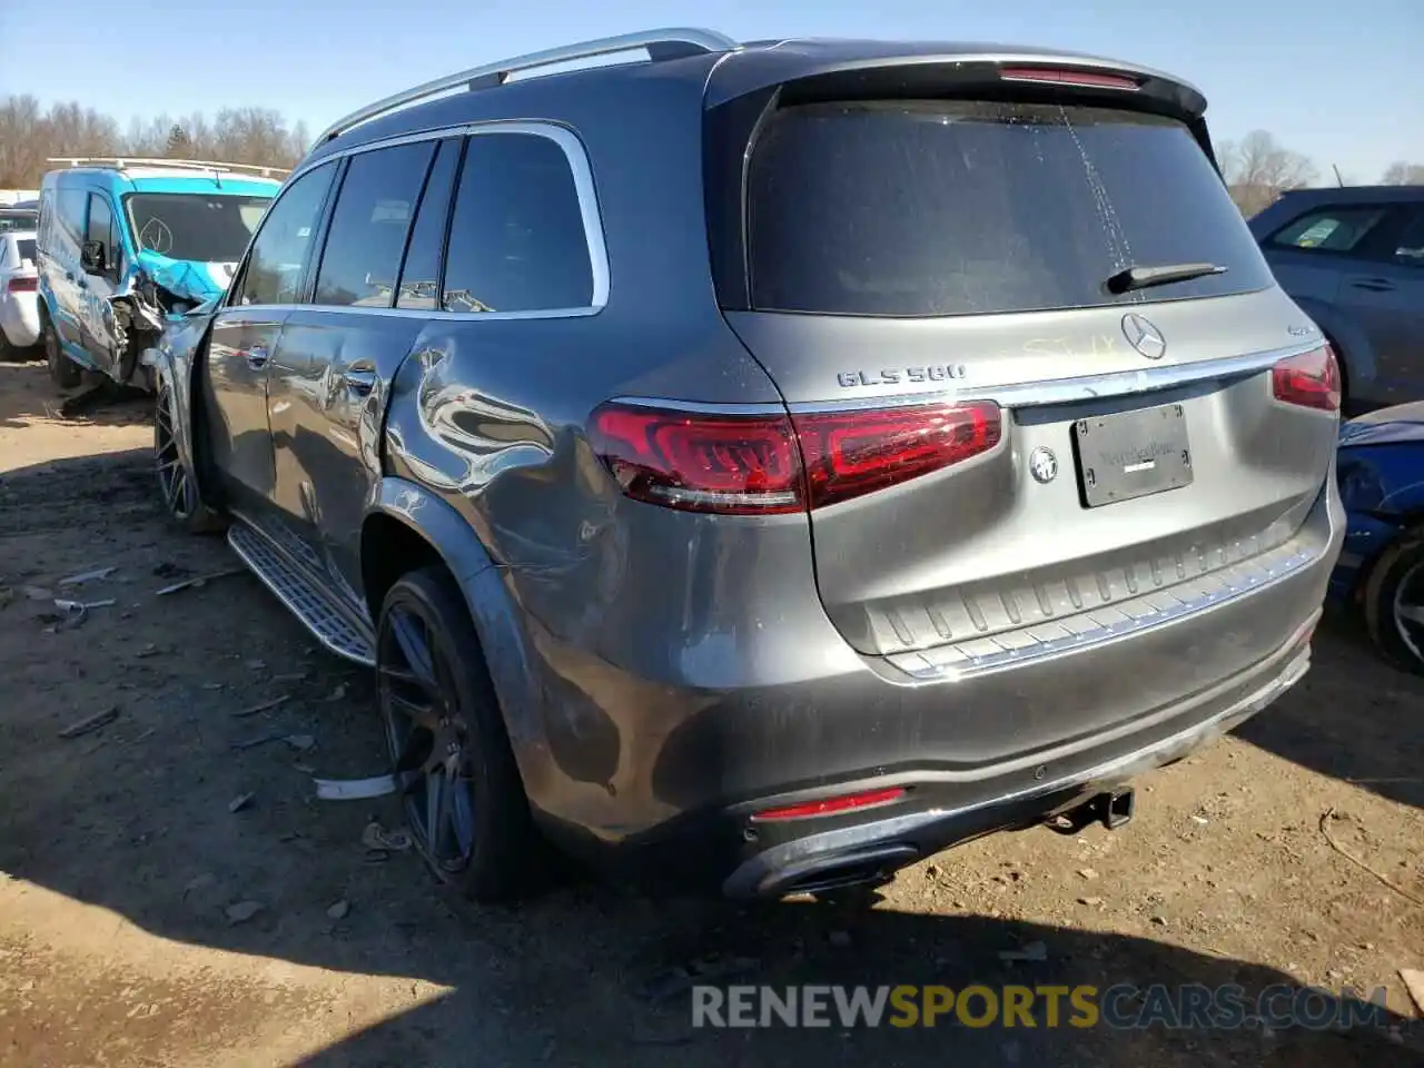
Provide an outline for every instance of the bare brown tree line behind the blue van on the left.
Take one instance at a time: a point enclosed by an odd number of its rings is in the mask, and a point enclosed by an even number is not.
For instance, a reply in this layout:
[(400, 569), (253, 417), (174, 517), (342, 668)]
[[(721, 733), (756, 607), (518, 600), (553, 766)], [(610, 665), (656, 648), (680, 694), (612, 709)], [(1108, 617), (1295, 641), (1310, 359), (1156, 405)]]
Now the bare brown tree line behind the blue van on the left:
[(41, 107), (30, 95), (0, 101), (0, 189), (37, 189), (47, 161), (67, 155), (132, 155), (218, 159), (226, 164), (293, 167), (310, 148), (305, 122), (288, 127), (269, 108), (224, 108), (202, 114), (118, 121), (77, 103)]

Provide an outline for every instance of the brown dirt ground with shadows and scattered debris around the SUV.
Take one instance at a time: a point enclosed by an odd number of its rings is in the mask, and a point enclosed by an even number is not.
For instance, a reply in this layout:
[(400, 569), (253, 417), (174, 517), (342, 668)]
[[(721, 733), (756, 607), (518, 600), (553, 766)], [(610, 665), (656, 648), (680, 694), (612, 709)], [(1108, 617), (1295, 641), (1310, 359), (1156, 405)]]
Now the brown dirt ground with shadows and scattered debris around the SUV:
[[(574, 881), (478, 909), (363, 846), (393, 800), (313, 797), (313, 773), (382, 770), (363, 672), (251, 575), (158, 597), (235, 558), (167, 525), (144, 404), (54, 404), (41, 365), (0, 365), (0, 1064), (1424, 1064), (1397, 974), (1424, 967), (1424, 684), (1349, 621), (1276, 706), (1145, 780), (1118, 832), (981, 840), (873, 907)], [(71, 628), (53, 597), (114, 604)], [(1034, 943), (1044, 960), (1000, 956)], [(703, 974), (1386, 985), (1393, 1030), (693, 1030)]]

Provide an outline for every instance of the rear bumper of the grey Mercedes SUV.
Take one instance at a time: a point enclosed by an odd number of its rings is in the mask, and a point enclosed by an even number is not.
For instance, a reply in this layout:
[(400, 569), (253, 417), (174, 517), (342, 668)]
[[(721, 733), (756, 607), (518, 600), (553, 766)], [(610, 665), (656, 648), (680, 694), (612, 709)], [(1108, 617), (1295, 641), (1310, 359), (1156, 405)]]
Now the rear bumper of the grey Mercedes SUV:
[[(796, 634), (829, 666), (758, 684), (746, 674), (786, 661), (749, 668), (740, 655), (726, 662), (742, 685), (722, 689), (629, 676), (545, 634), (543, 736), (515, 735), (525, 787), (541, 822), (597, 866), (732, 896), (783, 893), (860, 850), (896, 867), (1031, 826), (1179, 759), (1294, 684), (1343, 518), (1331, 478), (1296, 538), (1307, 562), (1161, 625), (960, 678), (847, 658), (809, 615)], [(873, 809), (752, 819), (890, 786), (906, 793)]]

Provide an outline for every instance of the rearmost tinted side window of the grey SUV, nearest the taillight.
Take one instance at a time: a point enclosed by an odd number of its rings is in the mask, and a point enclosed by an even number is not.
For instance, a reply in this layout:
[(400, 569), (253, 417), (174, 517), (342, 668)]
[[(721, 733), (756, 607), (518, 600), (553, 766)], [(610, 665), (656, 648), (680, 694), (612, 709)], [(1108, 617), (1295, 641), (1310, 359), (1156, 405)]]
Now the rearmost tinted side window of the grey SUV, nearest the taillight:
[(466, 147), (450, 222), (443, 308), (588, 308), (594, 272), (568, 158), (534, 134), (478, 134)]

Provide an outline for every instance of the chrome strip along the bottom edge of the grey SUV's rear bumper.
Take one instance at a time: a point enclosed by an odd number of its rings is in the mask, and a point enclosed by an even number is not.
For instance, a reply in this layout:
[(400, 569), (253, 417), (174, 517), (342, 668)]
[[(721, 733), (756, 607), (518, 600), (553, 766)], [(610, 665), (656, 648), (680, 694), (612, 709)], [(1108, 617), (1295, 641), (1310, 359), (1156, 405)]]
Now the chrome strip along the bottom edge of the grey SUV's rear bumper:
[[(1299, 646), (1303, 635), (1309, 634), (1319, 615), (1320, 614), (1316, 612), (1306, 622), (1306, 625), (1299, 628), (1294, 635), (1292, 635), (1290, 641), (1282, 645), (1282, 652), (1289, 654), (1294, 646)], [(1245, 719), (1249, 719), (1256, 712), (1266, 708), (1270, 702), (1296, 685), (1309, 669), (1310, 648), (1300, 648), (1293, 656), (1290, 656), (1284, 668), (1282, 668), (1274, 678), (1269, 679), (1265, 685), (1247, 693), (1240, 701), (1222, 709), (1215, 716), (1193, 723), (1175, 735), (1163, 738), (1141, 749), (1135, 749), (1124, 756), (1105, 760), (1081, 772), (1059, 776), (1058, 779), (1047, 783), (1034, 783), (1022, 790), (1012, 790), (998, 797), (975, 802), (973, 805), (963, 805), (954, 809), (928, 809), (871, 823), (856, 823), (839, 830), (827, 830), (820, 834), (796, 839), (795, 842), (789, 842), (783, 846), (773, 846), (765, 853), (752, 857), (728, 876), (722, 883), (722, 893), (728, 897), (755, 896), (759, 893), (760, 887), (772, 883), (772, 880), (775, 880), (793, 863), (805, 863), (817, 856), (827, 862), (834, 862), (836, 857), (843, 854), (846, 850), (852, 850), (859, 846), (874, 846), (881, 842), (894, 842), (899, 837), (914, 833), (920, 827), (933, 826), (936, 823), (947, 823), (954, 819), (970, 816), (975, 812), (983, 812), (984, 809), (1010, 806), (1072, 787), (1081, 787), (1087, 792), (1095, 786), (1109, 786), (1128, 782), (1143, 772), (1161, 768), (1169, 760), (1186, 756), (1188, 753), (1200, 749), (1208, 742), (1213, 742)], [(1048, 756), (1047, 759), (1052, 759), (1052, 756)], [(943, 782), (947, 776), (927, 775), (921, 778), (927, 782)], [(906, 782), (913, 782), (913, 778), (907, 776)]]

